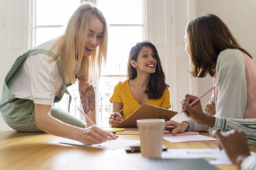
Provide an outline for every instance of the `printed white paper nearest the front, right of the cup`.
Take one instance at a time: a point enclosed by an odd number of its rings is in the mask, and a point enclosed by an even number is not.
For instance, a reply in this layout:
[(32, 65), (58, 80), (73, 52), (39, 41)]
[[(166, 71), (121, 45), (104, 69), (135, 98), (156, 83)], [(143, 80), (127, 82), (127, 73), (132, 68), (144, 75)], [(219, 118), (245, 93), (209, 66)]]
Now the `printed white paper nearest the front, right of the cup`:
[(168, 149), (162, 152), (162, 158), (204, 158), (211, 165), (232, 165), (220, 149)]

